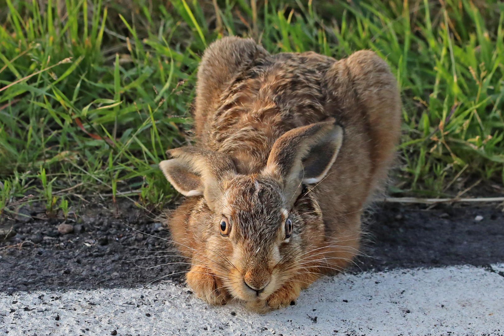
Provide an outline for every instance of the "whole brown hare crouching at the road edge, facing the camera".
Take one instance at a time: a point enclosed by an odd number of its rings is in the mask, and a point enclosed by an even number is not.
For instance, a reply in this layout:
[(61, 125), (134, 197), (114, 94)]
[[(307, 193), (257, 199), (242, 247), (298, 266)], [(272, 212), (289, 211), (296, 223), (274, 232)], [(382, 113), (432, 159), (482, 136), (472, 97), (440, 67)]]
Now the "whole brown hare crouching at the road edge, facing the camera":
[(337, 61), (237, 37), (211, 44), (196, 146), (159, 165), (187, 196), (168, 224), (195, 294), (266, 312), (344, 270), (394, 159), (400, 114), (396, 79), (371, 51)]

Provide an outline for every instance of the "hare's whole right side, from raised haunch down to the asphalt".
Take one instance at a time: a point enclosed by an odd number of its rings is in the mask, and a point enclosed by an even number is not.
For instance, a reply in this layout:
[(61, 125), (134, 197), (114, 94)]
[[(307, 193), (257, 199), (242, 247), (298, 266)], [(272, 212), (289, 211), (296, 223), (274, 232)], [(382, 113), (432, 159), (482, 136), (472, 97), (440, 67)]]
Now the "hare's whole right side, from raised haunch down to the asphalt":
[(401, 102), (389, 66), (371, 51), (358, 51), (334, 63), (326, 81), (328, 108), (345, 127), (327, 183), (315, 188), (324, 216), (329, 214), (324, 224), (330, 271), (344, 270), (359, 254), (361, 214), (394, 160)]

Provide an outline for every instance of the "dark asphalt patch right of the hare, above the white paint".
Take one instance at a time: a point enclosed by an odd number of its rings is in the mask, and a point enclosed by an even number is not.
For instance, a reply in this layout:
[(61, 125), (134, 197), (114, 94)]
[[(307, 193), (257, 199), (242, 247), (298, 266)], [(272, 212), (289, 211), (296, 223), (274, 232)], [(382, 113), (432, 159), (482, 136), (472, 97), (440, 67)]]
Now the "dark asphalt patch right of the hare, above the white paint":
[[(502, 205), (401, 206), (382, 203), (370, 216), (362, 270), (504, 262)], [(481, 216), (478, 220), (476, 217)]]

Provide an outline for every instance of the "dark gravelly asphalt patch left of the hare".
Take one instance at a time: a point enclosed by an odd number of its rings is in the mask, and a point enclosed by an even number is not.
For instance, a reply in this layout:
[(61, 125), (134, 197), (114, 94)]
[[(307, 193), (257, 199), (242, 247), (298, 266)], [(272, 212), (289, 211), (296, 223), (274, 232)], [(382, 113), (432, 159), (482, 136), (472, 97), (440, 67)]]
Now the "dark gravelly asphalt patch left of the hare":
[[(186, 264), (156, 267), (184, 261), (166, 256), (177, 252), (169, 251), (173, 247), (163, 240), (169, 235), (159, 219), (128, 201), (118, 208), (110, 211), (94, 205), (67, 221), (18, 216), (22, 221), (0, 225), (0, 229), (13, 227), (17, 232), (7, 241), (0, 238), (0, 291), (134, 287), (186, 271)], [(24, 213), (45, 217), (37, 207)], [(61, 223), (73, 225), (74, 232), (58, 232)], [(149, 258), (137, 259), (142, 257)], [(170, 279), (182, 277), (178, 273)]]

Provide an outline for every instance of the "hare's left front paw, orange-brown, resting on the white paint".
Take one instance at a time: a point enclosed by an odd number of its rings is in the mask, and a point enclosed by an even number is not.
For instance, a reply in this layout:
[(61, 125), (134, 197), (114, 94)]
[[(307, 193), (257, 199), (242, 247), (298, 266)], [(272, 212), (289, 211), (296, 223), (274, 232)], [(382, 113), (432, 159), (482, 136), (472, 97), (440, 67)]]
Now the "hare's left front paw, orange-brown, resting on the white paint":
[(204, 266), (194, 266), (187, 273), (187, 284), (191, 286), (197, 297), (210, 304), (226, 304), (231, 298), (222, 281)]

